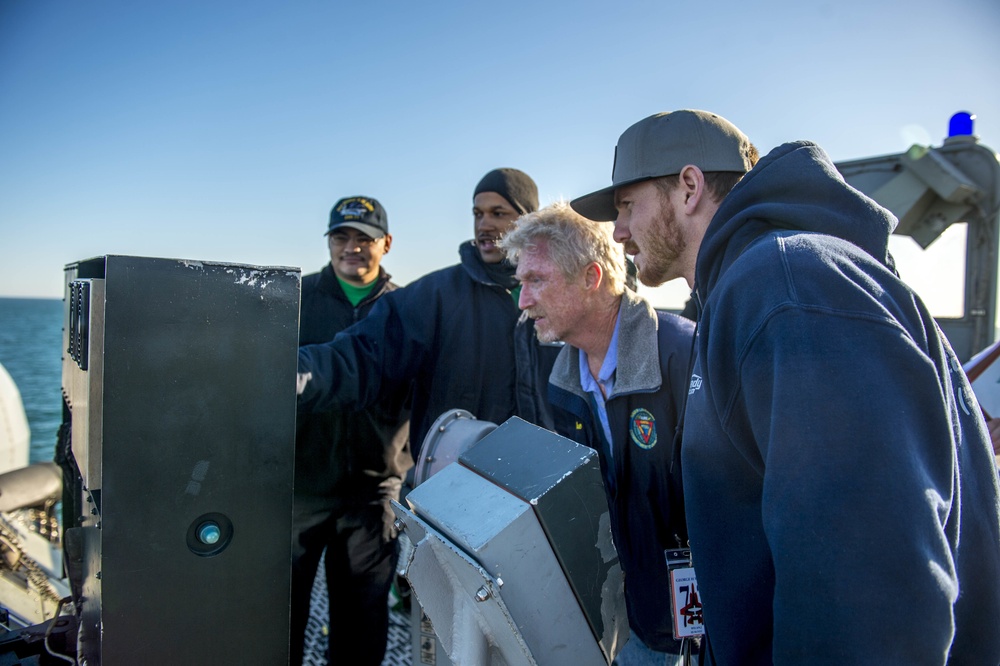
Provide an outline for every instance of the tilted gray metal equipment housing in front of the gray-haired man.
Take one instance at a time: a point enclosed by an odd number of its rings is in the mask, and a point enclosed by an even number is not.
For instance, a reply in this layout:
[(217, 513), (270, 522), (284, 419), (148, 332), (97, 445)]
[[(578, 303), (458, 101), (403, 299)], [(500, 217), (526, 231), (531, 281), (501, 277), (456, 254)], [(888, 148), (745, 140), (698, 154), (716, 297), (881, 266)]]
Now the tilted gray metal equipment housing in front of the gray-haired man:
[(596, 451), (517, 417), (393, 504), (456, 664), (609, 664), (628, 638)]

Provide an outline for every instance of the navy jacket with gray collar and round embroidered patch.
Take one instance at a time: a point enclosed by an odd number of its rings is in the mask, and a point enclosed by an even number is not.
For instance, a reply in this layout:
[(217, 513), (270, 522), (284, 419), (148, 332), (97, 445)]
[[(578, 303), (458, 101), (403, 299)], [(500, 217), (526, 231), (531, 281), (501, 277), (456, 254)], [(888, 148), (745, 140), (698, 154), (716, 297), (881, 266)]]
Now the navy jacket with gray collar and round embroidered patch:
[(664, 550), (687, 545), (681, 469), (674, 435), (688, 388), (694, 323), (656, 312), (631, 291), (622, 298), (618, 369), (606, 402), (613, 454), (591, 397), (580, 386), (580, 351), (556, 360), (549, 397), (575, 423), (561, 434), (596, 449), (625, 571), (629, 628), (643, 643), (677, 653)]

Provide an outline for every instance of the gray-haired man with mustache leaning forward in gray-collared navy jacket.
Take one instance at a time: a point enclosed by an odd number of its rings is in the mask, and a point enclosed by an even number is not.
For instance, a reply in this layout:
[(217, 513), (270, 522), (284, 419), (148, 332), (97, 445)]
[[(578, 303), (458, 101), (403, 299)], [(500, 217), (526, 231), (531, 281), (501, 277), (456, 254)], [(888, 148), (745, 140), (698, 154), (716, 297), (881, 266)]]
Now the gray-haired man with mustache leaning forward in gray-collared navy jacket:
[(567, 343), (549, 377), (556, 421), (568, 426), (561, 434), (599, 454), (633, 634), (615, 663), (676, 663), (684, 646), (673, 631), (665, 553), (687, 543), (672, 463), (694, 324), (627, 289), (612, 225), (567, 203), (521, 217), (502, 246), (539, 339)]

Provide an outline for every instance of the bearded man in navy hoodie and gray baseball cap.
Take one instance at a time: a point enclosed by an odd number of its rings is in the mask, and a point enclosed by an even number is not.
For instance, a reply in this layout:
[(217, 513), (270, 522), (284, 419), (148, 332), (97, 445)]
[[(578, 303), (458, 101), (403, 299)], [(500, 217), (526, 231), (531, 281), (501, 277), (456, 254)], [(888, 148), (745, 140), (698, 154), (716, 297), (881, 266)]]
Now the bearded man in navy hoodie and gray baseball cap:
[(989, 435), (893, 266), (896, 219), (814, 144), (755, 161), (717, 115), (657, 114), (572, 202), (616, 220), (640, 280), (684, 277), (698, 303), (682, 464), (703, 654), (1000, 663)]

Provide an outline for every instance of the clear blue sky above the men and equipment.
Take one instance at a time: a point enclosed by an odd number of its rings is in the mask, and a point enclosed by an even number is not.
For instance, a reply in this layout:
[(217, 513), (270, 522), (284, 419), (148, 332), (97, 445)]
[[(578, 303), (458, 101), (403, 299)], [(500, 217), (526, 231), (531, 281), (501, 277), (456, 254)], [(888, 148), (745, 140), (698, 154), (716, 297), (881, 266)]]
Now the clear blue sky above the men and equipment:
[(846, 160), (968, 110), (1000, 149), (998, 82), (996, 0), (0, 0), (0, 296), (102, 254), (313, 272), (351, 194), (405, 283), (457, 260), (486, 171), (584, 194), (651, 113)]

